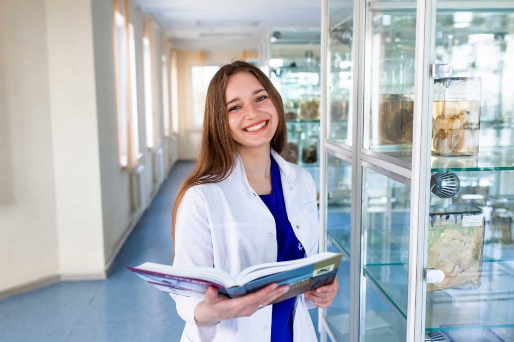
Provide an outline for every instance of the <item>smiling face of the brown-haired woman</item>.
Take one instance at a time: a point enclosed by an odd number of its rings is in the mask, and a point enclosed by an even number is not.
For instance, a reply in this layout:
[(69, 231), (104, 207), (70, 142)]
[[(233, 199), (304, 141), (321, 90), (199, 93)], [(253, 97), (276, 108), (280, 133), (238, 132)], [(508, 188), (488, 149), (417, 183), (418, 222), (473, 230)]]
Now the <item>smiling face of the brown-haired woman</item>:
[(264, 86), (251, 72), (230, 75), (225, 91), (232, 138), (244, 147), (269, 146), (279, 115)]

